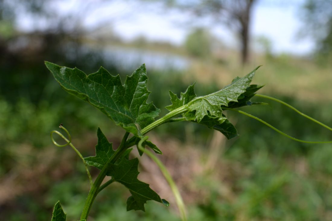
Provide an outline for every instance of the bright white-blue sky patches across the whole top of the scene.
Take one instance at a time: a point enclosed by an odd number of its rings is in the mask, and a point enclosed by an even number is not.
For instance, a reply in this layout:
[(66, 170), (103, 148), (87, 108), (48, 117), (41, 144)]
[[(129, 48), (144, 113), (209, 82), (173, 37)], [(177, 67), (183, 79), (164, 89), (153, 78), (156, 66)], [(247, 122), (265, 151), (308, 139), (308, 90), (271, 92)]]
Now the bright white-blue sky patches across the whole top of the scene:
[[(314, 48), (313, 40), (298, 37), (303, 27), (299, 16), (299, 8), (303, 2), (304, 0), (258, 0), (252, 11), (252, 42), (257, 37), (264, 36), (271, 40), (274, 53), (310, 53)], [(82, 16), (78, 7), (81, 3), (80, 0), (57, 0), (52, 8), (59, 10), (60, 14)], [(238, 46), (236, 35), (227, 27), (207, 19), (198, 23), (188, 13), (165, 8), (161, 1), (106, 1), (86, 12), (82, 16), (83, 27), (93, 30), (100, 24), (109, 23), (112, 30), (125, 40), (144, 36), (149, 40), (169, 41), (180, 45), (185, 41), (190, 28), (209, 25), (212, 34), (225, 45)], [(33, 26), (26, 17), (20, 20), (19, 25), (22, 29)]]

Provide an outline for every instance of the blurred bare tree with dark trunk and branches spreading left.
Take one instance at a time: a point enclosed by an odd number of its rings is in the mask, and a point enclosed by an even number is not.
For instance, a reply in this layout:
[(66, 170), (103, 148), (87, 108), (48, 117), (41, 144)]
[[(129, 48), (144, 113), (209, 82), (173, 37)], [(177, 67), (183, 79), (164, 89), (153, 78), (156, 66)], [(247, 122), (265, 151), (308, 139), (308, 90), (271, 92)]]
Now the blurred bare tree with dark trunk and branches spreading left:
[(226, 24), (240, 38), (242, 64), (248, 61), (249, 25), (252, 6), (256, 0), (173, 0), (172, 2), (175, 2), (172, 5), (190, 11), (198, 18), (212, 17), (219, 24)]

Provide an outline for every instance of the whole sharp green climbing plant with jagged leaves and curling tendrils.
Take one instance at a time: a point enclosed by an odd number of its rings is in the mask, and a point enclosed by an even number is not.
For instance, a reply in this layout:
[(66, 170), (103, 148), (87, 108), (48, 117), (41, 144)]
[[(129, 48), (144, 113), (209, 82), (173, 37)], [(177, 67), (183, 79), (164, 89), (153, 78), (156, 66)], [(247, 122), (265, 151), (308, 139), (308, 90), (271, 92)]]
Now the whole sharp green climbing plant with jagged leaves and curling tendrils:
[[(50, 62), (45, 62), (45, 64), (65, 91), (87, 101), (105, 113), (111, 120), (125, 130), (122, 142), (116, 150), (113, 150), (112, 143), (109, 143), (101, 129), (98, 128), (96, 155), (85, 158), (83, 158), (83, 156), (71, 143), (71, 136), (62, 125), (60, 125), (60, 128), (67, 133), (68, 139), (58, 131), (51, 132), (53, 143), (57, 146), (70, 145), (80, 156), (86, 167), (91, 188), (88, 193), (80, 221), (87, 219), (97, 194), (114, 182), (123, 184), (132, 194), (127, 199), (127, 210), (134, 209), (144, 211), (144, 204), (147, 200), (155, 200), (163, 203), (165, 206), (169, 205), (169, 203), (165, 199), (161, 199), (148, 184), (145, 184), (137, 179), (138, 159), (128, 159), (128, 155), (132, 150), (131, 147), (134, 145), (137, 146), (140, 155), (146, 153), (157, 163), (175, 194), (182, 220), (186, 220), (184, 203), (176, 185), (172, 181), (172, 178), (163, 164), (148, 149), (145, 148), (145, 146), (148, 146), (156, 154), (162, 154), (158, 147), (151, 141), (147, 140), (148, 137), (144, 135), (164, 123), (191, 121), (203, 124), (208, 128), (218, 130), (223, 133), (227, 139), (231, 139), (238, 135), (237, 130), (223, 114), (223, 111), (231, 110), (255, 118), (277, 132), (299, 142), (332, 142), (304, 141), (293, 138), (271, 126), (267, 122), (244, 111), (237, 110), (237, 108), (244, 106), (266, 105), (266, 103), (253, 103), (250, 101), (250, 99), (256, 95), (255, 92), (263, 87), (261, 85), (250, 85), (258, 67), (242, 78), (236, 77), (231, 84), (225, 86), (221, 90), (206, 96), (198, 97), (195, 94), (194, 85), (189, 86), (184, 93), (181, 93), (180, 98), (170, 91), (169, 95), (172, 104), (166, 107), (166, 109), (170, 112), (155, 120), (155, 117), (158, 116), (160, 110), (157, 109), (152, 102), (146, 103), (150, 92), (146, 87), (148, 78), (146, 76), (145, 65), (142, 65), (136, 69), (131, 76), (127, 76), (123, 85), (119, 75), (112, 76), (102, 67), (96, 73), (86, 75), (77, 68), (71, 69), (61, 67)], [(264, 95), (259, 96), (280, 102), (332, 131), (332, 128), (297, 111), (295, 108), (278, 99)], [(67, 143), (64, 145), (57, 144), (52, 137), (53, 133), (57, 133)], [(94, 182), (87, 166), (93, 166), (101, 170)], [(105, 184), (102, 184), (106, 176), (110, 176), (112, 178)], [(60, 203), (57, 202), (54, 206), (52, 221), (64, 221), (65, 218), (66, 215), (63, 212)]]

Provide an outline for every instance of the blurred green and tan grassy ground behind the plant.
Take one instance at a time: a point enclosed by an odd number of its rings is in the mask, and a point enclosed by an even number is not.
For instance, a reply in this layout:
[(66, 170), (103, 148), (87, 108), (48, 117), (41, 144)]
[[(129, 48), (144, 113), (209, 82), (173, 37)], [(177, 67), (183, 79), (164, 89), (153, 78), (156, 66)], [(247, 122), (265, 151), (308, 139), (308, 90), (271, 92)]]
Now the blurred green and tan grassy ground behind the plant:
[[(254, 83), (266, 84), (260, 93), (278, 97), (331, 125), (329, 67), (319, 67), (310, 60), (288, 55), (269, 59), (257, 55), (250, 65), (240, 67), (232, 59), (235, 54), (227, 53), (210, 60), (191, 58), (190, 68), (185, 71), (149, 70), (146, 64), (148, 89), (152, 91), (150, 101), (161, 109), (162, 115), (167, 112), (164, 107), (170, 103), (168, 90), (179, 94), (196, 81), (197, 94), (207, 94), (263, 64), (254, 80)], [(100, 63), (96, 62), (88, 70), (97, 70), (97, 64)], [(111, 73), (114, 72), (116, 69)], [(130, 73), (121, 74), (123, 77)], [(13, 100), (10, 94), (0, 97), (0, 212), (3, 220), (50, 219), (57, 200), (67, 212), (68, 220), (79, 217), (89, 184), (80, 159), (69, 148), (51, 144), (49, 132), (60, 123), (71, 132), (73, 143), (84, 156), (94, 155), (98, 126), (115, 146), (123, 132), (95, 108), (67, 95), (51, 77), (45, 79), (47, 87), (41, 90), (41, 97), (17, 96)], [(248, 107), (244, 111), (299, 139), (328, 140), (331, 137), (329, 131), (304, 120), (294, 111), (269, 103), (267, 107)], [(240, 137), (226, 142), (220, 140), (215, 144), (219, 148), (216, 152), (210, 144), (216, 135), (197, 124), (162, 125), (151, 135), (159, 141), (165, 153), (160, 158), (185, 196), (189, 220), (331, 220), (331, 145), (297, 143), (253, 119), (231, 112), (227, 115), (236, 123)], [(218, 161), (207, 170), (213, 154)], [(143, 158), (142, 162), (145, 161)], [(186, 168), (191, 169), (180, 174)], [(145, 170), (141, 168), (143, 177)], [(94, 176), (97, 172), (92, 170)], [(152, 178), (144, 179), (158, 188), (158, 182)], [(128, 195), (120, 185), (112, 184), (97, 197), (91, 217), (96, 221), (179, 220), (174, 207), (165, 208), (154, 202), (147, 204), (145, 213), (126, 212)], [(172, 195), (168, 193), (162, 198), (172, 198)]]

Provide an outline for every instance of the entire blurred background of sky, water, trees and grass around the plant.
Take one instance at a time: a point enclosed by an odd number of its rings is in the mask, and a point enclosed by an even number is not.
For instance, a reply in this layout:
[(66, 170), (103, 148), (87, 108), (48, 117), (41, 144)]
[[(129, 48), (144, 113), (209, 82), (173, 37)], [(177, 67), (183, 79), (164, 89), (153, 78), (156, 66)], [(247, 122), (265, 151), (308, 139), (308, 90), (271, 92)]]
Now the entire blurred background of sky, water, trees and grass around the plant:
[[(97, 127), (117, 147), (124, 133), (95, 108), (63, 91), (47, 60), (93, 73), (131, 74), (142, 63), (149, 100), (167, 113), (168, 91), (196, 82), (205, 95), (258, 65), (260, 93), (332, 125), (331, 0), (0, 0), (0, 217), (50, 220), (60, 200), (77, 220), (89, 191), (81, 160), (52, 144), (60, 123), (83, 156), (95, 154)], [(305, 140), (330, 131), (277, 103), (250, 112)], [(227, 113), (239, 137), (192, 123), (149, 133), (183, 195), (189, 220), (332, 220), (332, 146), (303, 144)], [(133, 151), (133, 156), (137, 153)], [(112, 184), (90, 220), (180, 220), (158, 168), (140, 159), (139, 178), (172, 203), (125, 210), (130, 193)], [(98, 171), (91, 168), (94, 177)]]

